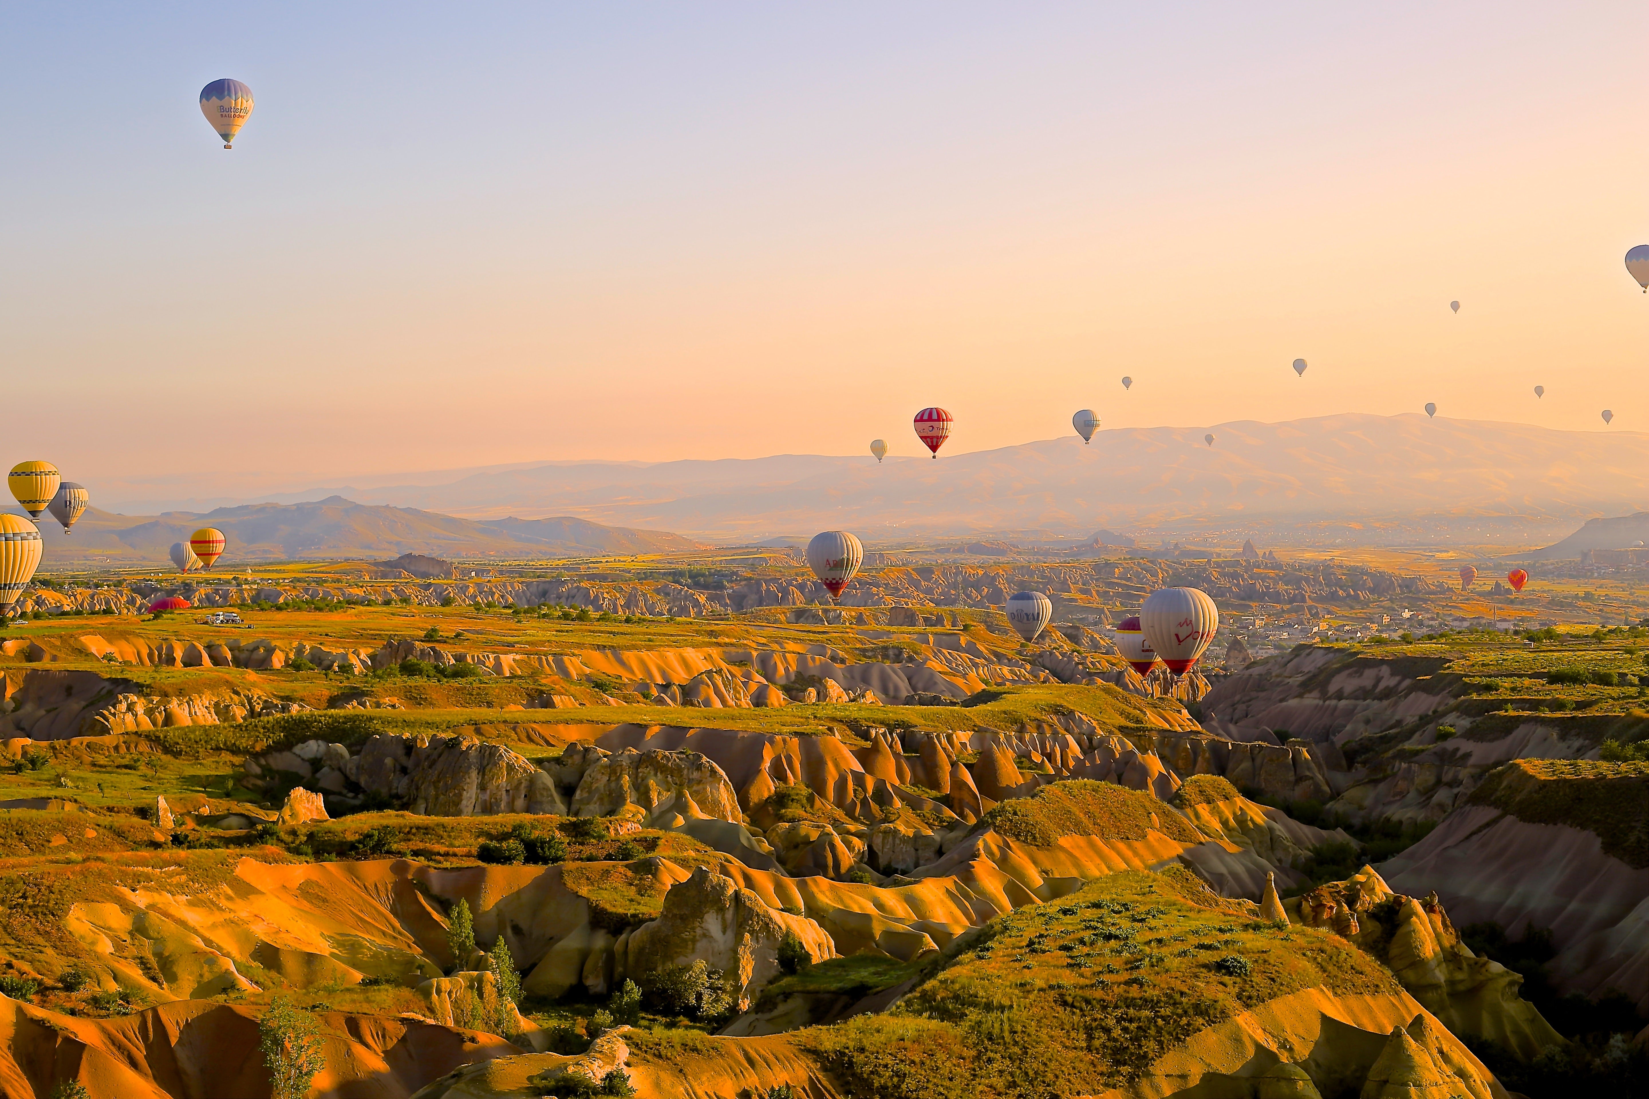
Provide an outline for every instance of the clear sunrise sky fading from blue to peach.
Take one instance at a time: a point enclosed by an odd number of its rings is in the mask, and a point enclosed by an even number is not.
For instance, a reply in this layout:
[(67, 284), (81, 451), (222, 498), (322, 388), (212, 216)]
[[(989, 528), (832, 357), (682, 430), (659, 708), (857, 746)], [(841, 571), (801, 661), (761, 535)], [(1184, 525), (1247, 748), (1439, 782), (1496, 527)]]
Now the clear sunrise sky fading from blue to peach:
[[(933, 404), (947, 453), (1077, 409), (1649, 430), (1646, 31), (1641, 2), (12, 3), (7, 461), (252, 494), (912, 455)], [(223, 76), (257, 101), (233, 152)]]

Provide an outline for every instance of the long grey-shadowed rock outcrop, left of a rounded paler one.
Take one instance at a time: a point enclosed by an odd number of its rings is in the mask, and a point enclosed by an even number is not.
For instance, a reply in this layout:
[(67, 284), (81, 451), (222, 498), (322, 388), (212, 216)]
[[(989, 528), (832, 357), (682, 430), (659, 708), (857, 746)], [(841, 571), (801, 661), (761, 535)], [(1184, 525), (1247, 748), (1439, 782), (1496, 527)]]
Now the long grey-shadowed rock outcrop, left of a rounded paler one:
[(411, 812), (435, 817), (567, 812), (549, 774), (524, 756), (475, 737), (373, 737), (350, 765), (361, 789), (388, 794)]

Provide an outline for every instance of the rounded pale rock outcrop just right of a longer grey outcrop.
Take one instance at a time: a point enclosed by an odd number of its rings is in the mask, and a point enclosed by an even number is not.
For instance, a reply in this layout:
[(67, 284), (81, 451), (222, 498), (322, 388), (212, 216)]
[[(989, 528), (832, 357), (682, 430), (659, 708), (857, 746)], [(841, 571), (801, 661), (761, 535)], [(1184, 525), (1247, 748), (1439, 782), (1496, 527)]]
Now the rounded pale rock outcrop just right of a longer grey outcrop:
[(635, 748), (602, 753), (582, 768), (572, 816), (633, 816), (645, 819), (646, 827), (673, 827), (696, 819), (744, 821), (732, 783), (707, 756)]

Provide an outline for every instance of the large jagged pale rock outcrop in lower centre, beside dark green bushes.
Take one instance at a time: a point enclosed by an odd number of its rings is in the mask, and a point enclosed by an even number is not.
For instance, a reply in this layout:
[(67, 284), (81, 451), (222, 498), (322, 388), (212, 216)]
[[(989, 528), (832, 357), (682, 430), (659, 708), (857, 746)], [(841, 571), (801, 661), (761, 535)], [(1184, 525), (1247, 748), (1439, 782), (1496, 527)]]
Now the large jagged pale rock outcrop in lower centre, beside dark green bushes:
[(665, 895), (658, 919), (630, 933), (627, 972), (645, 980), (658, 969), (704, 961), (727, 975), (744, 1012), (778, 975), (778, 947), (792, 934), (813, 961), (836, 956), (829, 934), (811, 919), (768, 908), (755, 891), (699, 867)]

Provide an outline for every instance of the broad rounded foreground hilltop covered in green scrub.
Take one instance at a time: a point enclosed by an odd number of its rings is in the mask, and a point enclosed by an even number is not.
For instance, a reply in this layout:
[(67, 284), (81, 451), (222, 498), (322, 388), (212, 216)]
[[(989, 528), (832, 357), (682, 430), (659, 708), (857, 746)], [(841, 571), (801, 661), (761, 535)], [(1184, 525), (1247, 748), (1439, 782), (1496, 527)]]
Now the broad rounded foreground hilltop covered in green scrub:
[(1138, 1081), (1191, 1035), (1301, 989), (1393, 994), (1342, 939), (1255, 923), (1186, 870), (993, 921), (887, 1015), (796, 1040), (859, 1099), (1045, 1099)]

